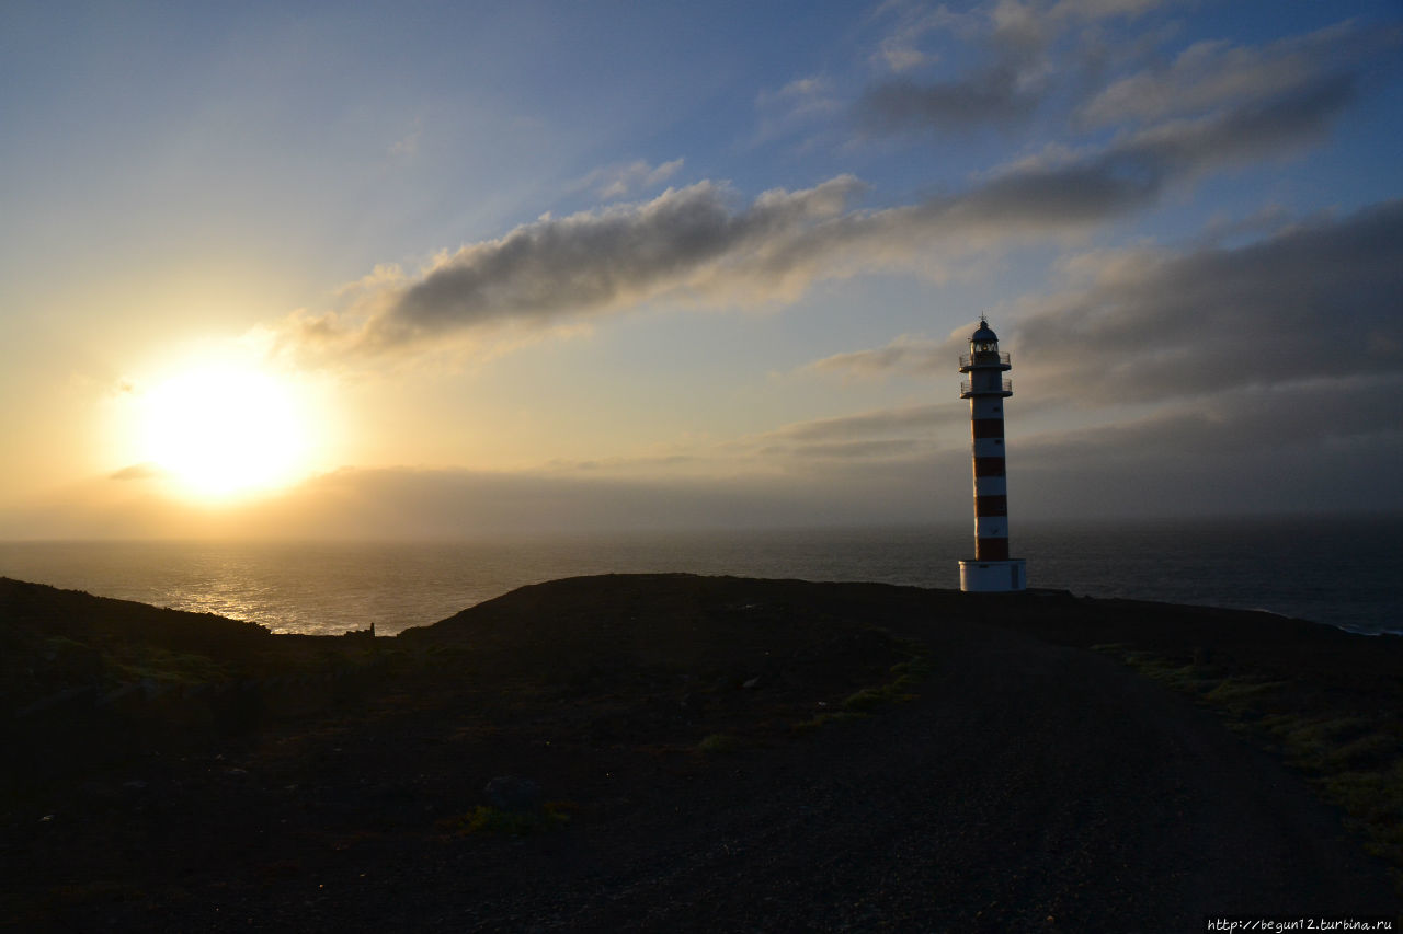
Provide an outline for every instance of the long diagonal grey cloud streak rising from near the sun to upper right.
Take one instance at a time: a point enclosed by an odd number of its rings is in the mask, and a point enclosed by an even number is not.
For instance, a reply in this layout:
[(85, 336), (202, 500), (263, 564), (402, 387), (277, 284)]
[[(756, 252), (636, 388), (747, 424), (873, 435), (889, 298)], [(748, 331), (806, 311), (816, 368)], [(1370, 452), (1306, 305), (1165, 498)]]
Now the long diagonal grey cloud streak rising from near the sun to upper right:
[(657, 299), (753, 304), (878, 269), (939, 275), (961, 255), (1058, 236), (1153, 203), (1174, 182), (1289, 151), (1319, 137), (1354, 100), (1347, 77), (1294, 88), (1197, 121), (1174, 121), (1100, 150), (1048, 151), (958, 194), (884, 210), (853, 209), (839, 175), (738, 205), (727, 185), (669, 188), (652, 201), (542, 217), (498, 240), (438, 257), (417, 276), (372, 276), (348, 313), (293, 316), (299, 353), (422, 351), (501, 325), (558, 327)]

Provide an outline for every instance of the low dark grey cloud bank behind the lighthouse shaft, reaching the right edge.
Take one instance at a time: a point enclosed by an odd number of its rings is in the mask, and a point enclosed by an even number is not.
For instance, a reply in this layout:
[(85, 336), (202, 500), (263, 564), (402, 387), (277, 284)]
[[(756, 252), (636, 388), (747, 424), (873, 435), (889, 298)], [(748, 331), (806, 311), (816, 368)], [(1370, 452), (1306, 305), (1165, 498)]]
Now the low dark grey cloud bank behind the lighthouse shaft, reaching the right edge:
[[(1058, 408), (1010, 408), (1014, 527), (1034, 517), (1403, 509), (1403, 487), (1381, 482), (1403, 473), (1399, 377), (1243, 390), (1108, 425), (1040, 432), (1042, 415), (1055, 418)], [(878, 412), (870, 417), (881, 421)], [(968, 410), (958, 407), (950, 428), (961, 436), (953, 446), (936, 446), (934, 431), (911, 425), (892, 432), (892, 442), (905, 443), (880, 456), (804, 457), (780, 447), (773, 457), (790, 466), (796, 489), (815, 484), (864, 499), (880, 487), (962, 519), (967, 421)]]

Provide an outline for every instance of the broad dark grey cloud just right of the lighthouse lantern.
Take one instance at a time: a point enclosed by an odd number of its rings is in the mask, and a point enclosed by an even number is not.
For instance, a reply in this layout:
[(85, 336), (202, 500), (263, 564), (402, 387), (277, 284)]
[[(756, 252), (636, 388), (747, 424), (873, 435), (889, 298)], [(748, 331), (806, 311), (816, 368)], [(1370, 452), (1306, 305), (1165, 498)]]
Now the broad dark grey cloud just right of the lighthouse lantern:
[(1399, 296), (1390, 201), (1244, 247), (1115, 257), (1016, 341), (1040, 386), (1103, 402), (1403, 373)]

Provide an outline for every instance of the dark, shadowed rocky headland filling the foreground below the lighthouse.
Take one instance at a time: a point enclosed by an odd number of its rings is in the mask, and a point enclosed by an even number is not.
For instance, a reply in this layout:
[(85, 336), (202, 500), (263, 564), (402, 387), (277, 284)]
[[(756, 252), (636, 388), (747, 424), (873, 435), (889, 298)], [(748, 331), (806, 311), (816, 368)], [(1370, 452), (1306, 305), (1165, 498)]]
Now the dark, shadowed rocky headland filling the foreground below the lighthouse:
[[(0, 581), (0, 638), (15, 930), (1197, 931), (1399, 906), (1368, 822), (1258, 742), (1340, 724), (1369, 740), (1340, 733), (1341, 774), (1397, 771), (1374, 711), (1403, 707), (1399, 639), (686, 575), (525, 588), (393, 639)], [(1294, 707), (1239, 704), (1264, 726), (1229, 731), (1131, 651)]]

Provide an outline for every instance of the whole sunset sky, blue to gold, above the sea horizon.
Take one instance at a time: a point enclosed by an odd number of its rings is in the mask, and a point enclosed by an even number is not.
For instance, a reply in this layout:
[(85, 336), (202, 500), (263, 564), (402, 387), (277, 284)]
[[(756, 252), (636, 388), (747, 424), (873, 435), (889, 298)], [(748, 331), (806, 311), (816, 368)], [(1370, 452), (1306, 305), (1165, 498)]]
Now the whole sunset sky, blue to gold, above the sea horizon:
[(1403, 4), (0, 6), (0, 537), (1403, 510)]

